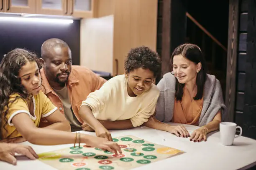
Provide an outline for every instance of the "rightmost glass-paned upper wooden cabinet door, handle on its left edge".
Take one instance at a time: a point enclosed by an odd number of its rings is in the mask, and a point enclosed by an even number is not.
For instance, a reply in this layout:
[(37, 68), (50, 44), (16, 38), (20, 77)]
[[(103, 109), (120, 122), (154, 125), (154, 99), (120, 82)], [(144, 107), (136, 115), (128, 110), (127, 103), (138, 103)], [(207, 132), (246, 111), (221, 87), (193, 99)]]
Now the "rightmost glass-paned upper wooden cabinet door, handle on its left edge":
[(69, 14), (77, 18), (91, 18), (94, 0), (69, 0)]

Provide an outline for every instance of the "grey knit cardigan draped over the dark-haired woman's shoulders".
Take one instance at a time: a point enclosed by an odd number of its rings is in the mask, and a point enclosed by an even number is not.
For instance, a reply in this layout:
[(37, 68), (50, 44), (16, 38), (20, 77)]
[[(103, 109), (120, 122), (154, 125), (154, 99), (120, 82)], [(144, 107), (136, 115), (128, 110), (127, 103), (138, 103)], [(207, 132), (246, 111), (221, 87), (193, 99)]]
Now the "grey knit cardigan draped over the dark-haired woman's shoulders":
[[(170, 122), (173, 116), (175, 77), (170, 72), (157, 84), (160, 95), (156, 104), (156, 118), (161, 122)], [(225, 117), (226, 107), (223, 101), (220, 82), (214, 75), (207, 74), (203, 92), (203, 107), (199, 118), (199, 126), (211, 122), (221, 109), (222, 121)]]

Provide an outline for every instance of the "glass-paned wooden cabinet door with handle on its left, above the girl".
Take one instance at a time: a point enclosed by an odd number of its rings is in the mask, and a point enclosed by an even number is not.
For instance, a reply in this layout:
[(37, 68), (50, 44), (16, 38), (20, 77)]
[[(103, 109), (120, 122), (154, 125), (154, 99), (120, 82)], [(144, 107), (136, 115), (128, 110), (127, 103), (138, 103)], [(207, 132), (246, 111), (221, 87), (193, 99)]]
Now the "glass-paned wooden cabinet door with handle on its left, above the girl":
[(7, 13), (36, 13), (36, 0), (2, 0), (1, 5), (3, 1)]

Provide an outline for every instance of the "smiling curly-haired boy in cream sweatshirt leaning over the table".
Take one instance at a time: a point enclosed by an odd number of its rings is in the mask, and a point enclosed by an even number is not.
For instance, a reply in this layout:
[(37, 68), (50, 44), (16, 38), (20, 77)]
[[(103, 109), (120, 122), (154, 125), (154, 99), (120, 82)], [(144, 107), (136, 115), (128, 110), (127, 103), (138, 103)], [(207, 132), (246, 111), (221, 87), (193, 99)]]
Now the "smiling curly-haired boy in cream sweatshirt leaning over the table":
[(153, 81), (160, 71), (156, 52), (145, 46), (131, 49), (125, 74), (111, 78), (82, 102), (79, 115), (85, 122), (83, 129), (112, 140), (108, 130), (130, 129), (147, 122), (159, 97)]

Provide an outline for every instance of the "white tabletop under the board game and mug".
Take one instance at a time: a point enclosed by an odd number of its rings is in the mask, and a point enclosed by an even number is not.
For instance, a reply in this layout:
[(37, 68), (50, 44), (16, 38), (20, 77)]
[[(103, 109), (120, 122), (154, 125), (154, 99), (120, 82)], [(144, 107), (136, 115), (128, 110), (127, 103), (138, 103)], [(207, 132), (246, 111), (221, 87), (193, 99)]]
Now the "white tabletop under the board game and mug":
[[(174, 124), (174, 123), (171, 123)], [(198, 128), (197, 126), (184, 125), (189, 133)], [(185, 153), (155, 163), (143, 165), (133, 170), (236, 170), (246, 169), (256, 165), (256, 140), (239, 137), (232, 146), (220, 144), (220, 133), (215, 132), (208, 135), (207, 142), (194, 143), (189, 138), (178, 138), (167, 132), (154, 130), (146, 127), (131, 130), (111, 130), (113, 137), (123, 135), (134, 135), (144, 140), (160, 145), (183, 150)], [(82, 132), (94, 135), (95, 133)], [(69, 145), (41, 146), (25, 142), (31, 145), (36, 153), (44, 153), (61, 148), (71, 147)], [(1, 170), (56, 170), (39, 160), (18, 160), (17, 166), (0, 162)]]

